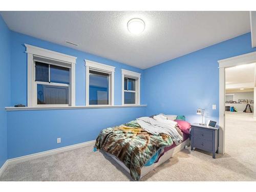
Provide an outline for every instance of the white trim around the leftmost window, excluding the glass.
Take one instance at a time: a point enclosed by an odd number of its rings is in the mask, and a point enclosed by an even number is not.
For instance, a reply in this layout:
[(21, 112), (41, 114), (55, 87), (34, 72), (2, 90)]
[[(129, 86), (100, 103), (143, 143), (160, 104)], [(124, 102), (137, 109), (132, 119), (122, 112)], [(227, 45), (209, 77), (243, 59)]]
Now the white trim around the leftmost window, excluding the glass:
[[(31, 46), (28, 44), (25, 44), (26, 46), (26, 53), (28, 56), (28, 100), (27, 105), (29, 107), (47, 107), (47, 106), (75, 106), (75, 63), (76, 58), (74, 56), (58, 53), (55, 51), (42, 49), (39, 47)], [(37, 104), (37, 95), (36, 95), (36, 83), (35, 83), (35, 64), (33, 60), (33, 55), (41, 56), (41, 57), (47, 57), (49, 59), (63, 61), (66, 63), (71, 63), (70, 68), (70, 89), (69, 89), (69, 104)], [(49, 83), (48, 83), (49, 84)], [(55, 83), (51, 83), (55, 84)], [(60, 85), (60, 83), (56, 83), (56, 85)]]

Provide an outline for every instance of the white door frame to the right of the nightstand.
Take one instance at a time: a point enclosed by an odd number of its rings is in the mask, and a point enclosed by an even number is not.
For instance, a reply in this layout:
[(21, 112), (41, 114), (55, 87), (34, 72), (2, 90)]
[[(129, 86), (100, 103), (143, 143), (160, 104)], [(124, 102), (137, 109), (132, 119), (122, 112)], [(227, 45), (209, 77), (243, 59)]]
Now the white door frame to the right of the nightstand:
[(230, 57), (219, 62), (219, 124), (220, 124), (220, 143), (219, 143), (219, 153), (225, 153), (225, 69), (229, 67), (249, 64), (256, 61), (256, 51), (252, 53), (247, 53), (244, 55), (239, 55), (236, 57)]

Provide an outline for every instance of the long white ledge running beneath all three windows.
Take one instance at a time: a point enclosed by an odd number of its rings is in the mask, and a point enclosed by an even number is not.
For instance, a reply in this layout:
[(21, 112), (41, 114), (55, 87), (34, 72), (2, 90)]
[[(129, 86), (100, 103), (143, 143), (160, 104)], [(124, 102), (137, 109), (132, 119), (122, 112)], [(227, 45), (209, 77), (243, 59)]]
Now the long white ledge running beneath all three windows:
[(105, 108), (140, 108), (145, 107), (146, 104), (141, 105), (108, 105), (108, 106), (7, 106), (6, 111), (37, 111), (37, 110), (78, 110), (78, 109), (105, 109)]

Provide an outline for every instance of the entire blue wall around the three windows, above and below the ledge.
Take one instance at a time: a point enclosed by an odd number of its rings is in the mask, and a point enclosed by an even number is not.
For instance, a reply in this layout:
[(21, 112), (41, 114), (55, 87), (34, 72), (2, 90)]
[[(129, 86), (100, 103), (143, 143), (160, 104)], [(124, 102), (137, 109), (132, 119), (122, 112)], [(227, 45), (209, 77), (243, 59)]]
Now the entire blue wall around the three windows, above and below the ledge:
[[(141, 73), (143, 70), (113, 60), (53, 44), (28, 35), (10, 31), (11, 35), (11, 105), (27, 104), (27, 53), (24, 44), (77, 57), (76, 105), (86, 104), (86, 67), (84, 59), (115, 68), (115, 105), (121, 105), (121, 69)], [(141, 93), (141, 103), (143, 103)], [(100, 130), (144, 116), (145, 108), (44, 110), (7, 112), (8, 159), (52, 150), (96, 139)], [(57, 144), (57, 138), (61, 143)]]

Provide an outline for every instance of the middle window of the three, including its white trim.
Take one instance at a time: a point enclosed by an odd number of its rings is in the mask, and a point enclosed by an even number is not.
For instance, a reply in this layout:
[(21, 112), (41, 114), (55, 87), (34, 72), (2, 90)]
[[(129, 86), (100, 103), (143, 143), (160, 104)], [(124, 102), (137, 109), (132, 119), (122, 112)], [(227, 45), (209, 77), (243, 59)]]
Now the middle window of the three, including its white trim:
[(114, 105), (115, 67), (86, 62), (86, 105)]

